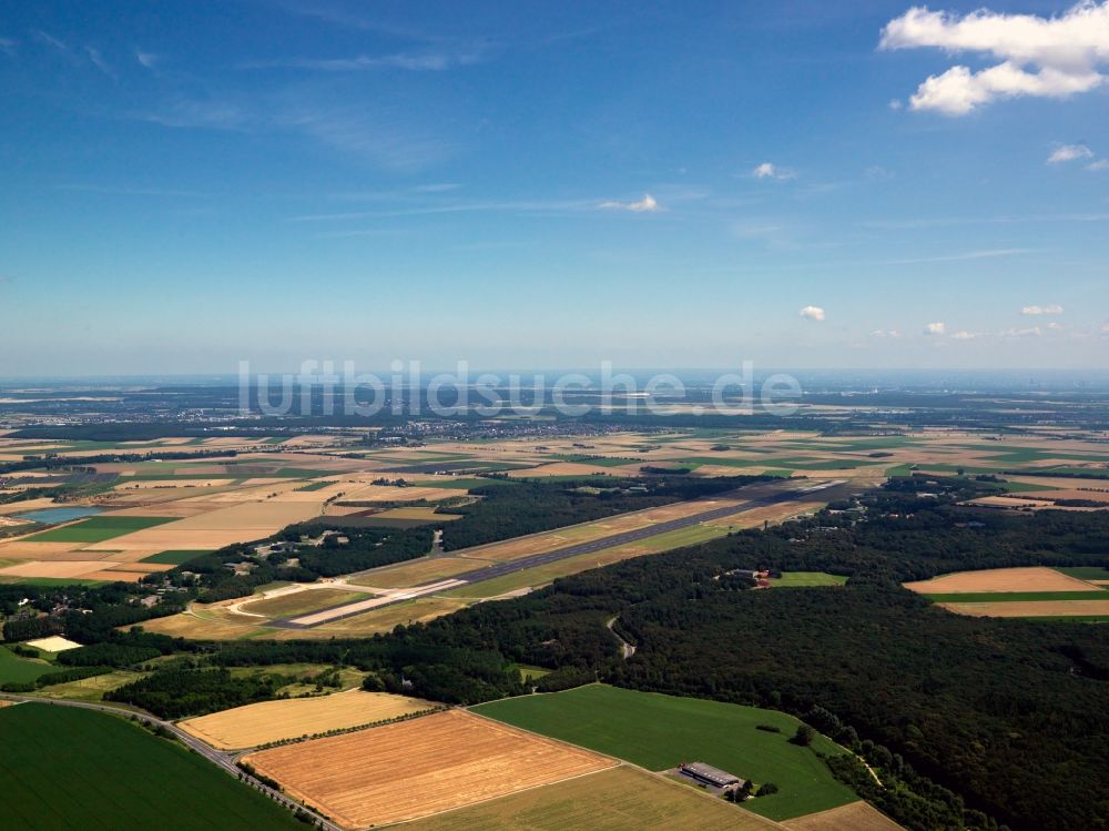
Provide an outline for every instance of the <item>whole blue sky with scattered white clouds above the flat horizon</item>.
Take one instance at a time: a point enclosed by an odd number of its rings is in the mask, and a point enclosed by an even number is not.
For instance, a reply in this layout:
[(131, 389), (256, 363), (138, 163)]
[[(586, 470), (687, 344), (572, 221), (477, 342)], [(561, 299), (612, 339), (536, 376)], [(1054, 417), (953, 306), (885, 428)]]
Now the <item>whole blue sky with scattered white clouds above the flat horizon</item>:
[(0, 2), (0, 376), (1103, 367), (1109, 6), (767, 6)]

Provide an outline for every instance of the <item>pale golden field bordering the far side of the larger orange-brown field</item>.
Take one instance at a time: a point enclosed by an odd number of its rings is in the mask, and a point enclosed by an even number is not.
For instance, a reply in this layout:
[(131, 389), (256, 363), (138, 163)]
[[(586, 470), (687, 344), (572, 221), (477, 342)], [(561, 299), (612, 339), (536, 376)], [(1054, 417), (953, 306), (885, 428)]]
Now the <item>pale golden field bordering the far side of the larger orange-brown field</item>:
[(435, 707), (419, 698), (348, 690), (315, 698), (261, 701), (189, 719), (180, 722), (179, 727), (218, 750), (242, 750), (272, 741), (372, 724)]

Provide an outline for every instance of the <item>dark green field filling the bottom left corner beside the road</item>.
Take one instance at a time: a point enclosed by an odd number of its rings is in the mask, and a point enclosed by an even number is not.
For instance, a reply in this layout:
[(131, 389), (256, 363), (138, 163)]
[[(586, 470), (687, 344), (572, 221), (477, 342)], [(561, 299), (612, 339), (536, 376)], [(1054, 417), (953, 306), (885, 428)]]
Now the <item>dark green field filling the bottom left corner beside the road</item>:
[(195, 753), (108, 713), (0, 709), (0, 829), (303, 829)]

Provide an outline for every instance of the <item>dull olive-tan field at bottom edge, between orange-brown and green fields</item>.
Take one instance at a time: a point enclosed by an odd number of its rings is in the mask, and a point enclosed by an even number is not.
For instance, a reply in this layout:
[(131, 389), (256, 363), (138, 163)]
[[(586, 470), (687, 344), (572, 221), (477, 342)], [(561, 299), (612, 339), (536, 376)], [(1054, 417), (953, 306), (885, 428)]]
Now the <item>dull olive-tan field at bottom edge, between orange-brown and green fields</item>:
[[(428, 817), (405, 828), (411, 831), (762, 831), (782, 827), (663, 777), (620, 767)], [(868, 829), (861, 827), (861, 831)]]

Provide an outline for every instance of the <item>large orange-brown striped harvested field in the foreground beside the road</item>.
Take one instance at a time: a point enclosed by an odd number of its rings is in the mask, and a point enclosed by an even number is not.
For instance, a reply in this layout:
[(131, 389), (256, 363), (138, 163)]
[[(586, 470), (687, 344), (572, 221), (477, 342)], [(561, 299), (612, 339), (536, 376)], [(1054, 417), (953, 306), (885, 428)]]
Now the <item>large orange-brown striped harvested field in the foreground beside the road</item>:
[(460, 710), (244, 761), (347, 828), (427, 817), (618, 764)]

